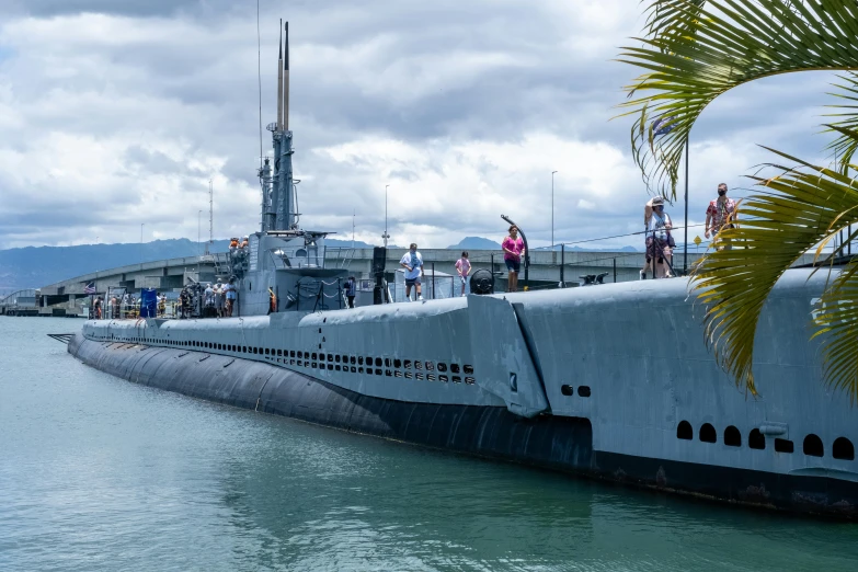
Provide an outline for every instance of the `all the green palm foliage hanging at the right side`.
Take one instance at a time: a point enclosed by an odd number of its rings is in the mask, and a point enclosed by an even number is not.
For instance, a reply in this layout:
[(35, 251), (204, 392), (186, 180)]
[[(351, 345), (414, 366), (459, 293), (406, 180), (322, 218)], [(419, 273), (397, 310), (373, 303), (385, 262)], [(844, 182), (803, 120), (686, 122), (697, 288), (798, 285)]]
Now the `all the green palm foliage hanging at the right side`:
[[(626, 88), (624, 115), (634, 116), (631, 147), (654, 192), (676, 196), (678, 168), (691, 127), (716, 98), (780, 73), (839, 70), (837, 105), (825, 128), (834, 135), (830, 167), (773, 152), (777, 175), (752, 176), (758, 192), (740, 206), (742, 225), (725, 228), (696, 268), (693, 289), (706, 302), (706, 336), (740, 386), (754, 390), (754, 335), (766, 298), (803, 253), (817, 256), (858, 221), (851, 163), (858, 149), (858, 2), (855, 0), (650, 0), (640, 46), (620, 61), (643, 70)], [(654, 137), (655, 118), (672, 130)], [(777, 162), (775, 162), (777, 161)], [(787, 163), (787, 164), (785, 164)], [(858, 233), (858, 231), (856, 231)], [(855, 238), (855, 237), (849, 237)], [(858, 398), (858, 266), (833, 279), (814, 312), (830, 384)]]

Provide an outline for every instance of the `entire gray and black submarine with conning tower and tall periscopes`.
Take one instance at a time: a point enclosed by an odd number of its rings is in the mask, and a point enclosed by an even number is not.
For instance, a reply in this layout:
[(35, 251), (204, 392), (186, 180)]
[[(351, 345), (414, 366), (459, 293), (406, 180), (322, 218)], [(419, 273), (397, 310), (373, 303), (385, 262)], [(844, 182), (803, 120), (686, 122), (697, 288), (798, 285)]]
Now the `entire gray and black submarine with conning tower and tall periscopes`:
[(821, 341), (808, 340), (824, 276), (790, 270), (766, 301), (758, 396), (716, 363), (685, 278), (343, 308), (328, 232), (300, 228), (296, 211), (288, 23), (279, 50), (260, 229), (222, 268), (234, 317), (89, 320), (71, 355), (135, 384), (357, 434), (858, 516), (855, 411), (824, 385)]

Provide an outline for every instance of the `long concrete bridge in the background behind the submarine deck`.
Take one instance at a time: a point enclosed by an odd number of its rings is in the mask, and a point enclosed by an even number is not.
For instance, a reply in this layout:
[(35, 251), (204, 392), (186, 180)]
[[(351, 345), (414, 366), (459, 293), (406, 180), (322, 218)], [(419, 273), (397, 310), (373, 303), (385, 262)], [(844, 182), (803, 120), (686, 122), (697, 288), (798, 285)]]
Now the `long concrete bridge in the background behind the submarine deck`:
[[(393, 282), (392, 273), (399, 268), (399, 261), (407, 251), (404, 249), (388, 249), (387, 272), (389, 282)], [(426, 271), (434, 270), (438, 273), (456, 274), (454, 264), (461, 254), (458, 250), (423, 249), (421, 250)], [(700, 251), (702, 254), (702, 249)], [(688, 255), (688, 267), (699, 259), (700, 254)], [(42, 314), (56, 314), (56, 309), (64, 309), (66, 313), (80, 314), (81, 309), (89, 297), (83, 288), (95, 284), (98, 294), (103, 295), (108, 287), (127, 288), (129, 291), (139, 291), (140, 288), (156, 288), (160, 290), (179, 289), (187, 284), (188, 278), (196, 282), (215, 282), (227, 263), (228, 254), (225, 252), (205, 254), (202, 256), (185, 256), (138, 264), (128, 264), (117, 268), (92, 272), (82, 276), (76, 276), (56, 284), (43, 286), (38, 290), (38, 304)], [(562, 264), (561, 264), (562, 259)], [(473, 250), (470, 251), (470, 261), (473, 270), (490, 268), (495, 272), (495, 288), (503, 291), (506, 288), (506, 267), (503, 262), (503, 251), (500, 250)], [(805, 254), (800, 263), (811, 263), (812, 254)], [(325, 250), (325, 265), (328, 267), (347, 268), (358, 279), (370, 278), (373, 262), (373, 249), (328, 248)], [(561, 272), (567, 286), (577, 286), (579, 276), (587, 274), (607, 273), (604, 281), (628, 282), (640, 279), (639, 271), (643, 266), (643, 252), (582, 252), (582, 251), (546, 251), (536, 250), (530, 253), (529, 279), (530, 288), (557, 287), (561, 281)], [(493, 264), (493, 267), (492, 267)], [(677, 272), (684, 265), (682, 252), (674, 255), (674, 267)], [(524, 268), (519, 275), (519, 287), (523, 286)]]

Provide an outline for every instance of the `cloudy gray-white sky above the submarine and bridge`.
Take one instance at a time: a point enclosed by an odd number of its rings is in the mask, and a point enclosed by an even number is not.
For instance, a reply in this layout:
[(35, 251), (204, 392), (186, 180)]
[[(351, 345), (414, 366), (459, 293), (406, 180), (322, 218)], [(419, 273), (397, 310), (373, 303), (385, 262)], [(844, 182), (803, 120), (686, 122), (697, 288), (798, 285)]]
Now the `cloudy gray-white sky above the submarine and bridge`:
[[(647, 191), (611, 121), (638, 71), (634, 0), (261, 0), (262, 122), (275, 118), (278, 19), (291, 33), (305, 228), (379, 242), (531, 245), (637, 231)], [(770, 159), (823, 160), (825, 73), (741, 87), (693, 134), (690, 224)], [(196, 239), (259, 227), (255, 0), (3, 0), (0, 244)], [(265, 152), (270, 138), (265, 133)], [(682, 222), (682, 203), (668, 208)], [(204, 222), (207, 228), (207, 222)], [(205, 233), (205, 231), (204, 231)], [(694, 237), (694, 232), (690, 234)], [(639, 245), (639, 237), (593, 245)]]

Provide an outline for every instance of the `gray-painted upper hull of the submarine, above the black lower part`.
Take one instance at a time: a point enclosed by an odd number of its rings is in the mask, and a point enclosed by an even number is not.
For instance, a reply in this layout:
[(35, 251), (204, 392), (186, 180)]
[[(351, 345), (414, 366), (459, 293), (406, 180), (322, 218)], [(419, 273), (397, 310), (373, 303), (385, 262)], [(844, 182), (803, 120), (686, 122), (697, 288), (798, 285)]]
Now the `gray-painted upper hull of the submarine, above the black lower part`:
[[(858, 487), (858, 461), (832, 455), (835, 439), (858, 439), (858, 423), (848, 398), (823, 385), (809, 322), (825, 276), (809, 275), (788, 272), (764, 309), (756, 398), (716, 364), (703, 308), (680, 279), (241, 319), (90, 321), (83, 333), (265, 362), (374, 398), (584, 417), (595, 451)], [(683, 422), (691, 439), (677, 438)], [(714, 443), (701, 441), (705, 424)], [(724, 443), (729, 426), (741, 445)], [(760, 428), (765, 448), (752, 449), (748, 435)], [(822, 456), (804, 454), (809, 435), (821, 438)], [(794, 451), (776, 451), (775, 438)]]

